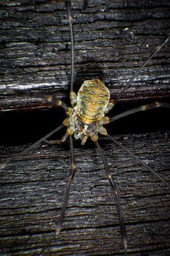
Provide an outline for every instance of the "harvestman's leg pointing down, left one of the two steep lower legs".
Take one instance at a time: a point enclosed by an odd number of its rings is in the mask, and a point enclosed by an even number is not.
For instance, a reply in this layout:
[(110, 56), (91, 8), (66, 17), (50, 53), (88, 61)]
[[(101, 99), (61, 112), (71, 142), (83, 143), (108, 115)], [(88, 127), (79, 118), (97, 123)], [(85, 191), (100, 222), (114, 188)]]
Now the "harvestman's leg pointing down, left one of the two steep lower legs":
[(72, 140), (72, 135), (69, 135), (69, 143), (70, 143), (70, 152), (71, 152), (71, 170), (69, 173), (69, 178), (67, 179), (66, 182), (66, 189), (64, 192), (64, 197), (63, 197), (63, 206), (61, 208), (61, 215), (58, 219), (58, 223), (55, 227), (55, 234), (58, 236), (58, 234), (61, 231), (62, 223), (63, 223), (63, 218), (66, 212), (66, 206), (68, 203), (68, 198), (69, 198), (69, 189), (70, 189), (70, 184), (73, 181), (74, 174), (76, 172), (76, 165), (75, 165), (75, 157), (74, 157), (74, 144)]

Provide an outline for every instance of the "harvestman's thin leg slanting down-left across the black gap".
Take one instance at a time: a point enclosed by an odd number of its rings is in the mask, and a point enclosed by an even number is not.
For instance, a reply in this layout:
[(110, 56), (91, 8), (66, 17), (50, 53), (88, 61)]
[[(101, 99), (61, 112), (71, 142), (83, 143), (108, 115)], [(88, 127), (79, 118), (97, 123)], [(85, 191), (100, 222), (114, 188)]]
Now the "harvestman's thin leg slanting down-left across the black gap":
[(43, 138), (41, 138), (40, 140), (37, 140), (34, 144), (32, 144), (31, 146), (29, 146), (28, 148), (26, 148), (24, 151), (20, 152), (19, 154), (17, 154), (16, 156), (12, 157), (11, 159), (9, 159), (9, 161), (4, 162), (3, 164), (0, 165), (0, 170), (4, 169), (5, 167), (7, 167), (7, 165), (10, 164), (10, 162), (15, 161), (16, 159), (18, 159), (18, 157), (23, 156), (24, 154), (28, 153), (29, 151), (31, 151), (33, 148), (35, 148), (36, 146), (38, 146), (40, 143), (42, 143), (43, 141), (45, 141), (47, 138), (49, 138), (50, 136), (52, 136), (55, 132), (58, 132), (61, 128), (63, 128), (64, 125), (61, 124), (61, 126), (53, 129), (52, 132), (48, 133), (47, 135), (45, 135)]

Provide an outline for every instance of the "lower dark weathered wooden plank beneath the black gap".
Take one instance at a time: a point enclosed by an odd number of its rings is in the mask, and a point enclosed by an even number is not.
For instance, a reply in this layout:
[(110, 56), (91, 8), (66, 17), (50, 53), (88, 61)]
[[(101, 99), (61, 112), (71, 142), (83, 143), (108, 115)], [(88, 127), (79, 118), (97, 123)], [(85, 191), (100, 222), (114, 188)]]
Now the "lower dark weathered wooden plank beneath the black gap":
[[(116, 137), (170, 180), (170, 133)], [(169, 189), (120, 148), (101, 142), (120, 200), (129, 255), (169, 255)], [(1, 147), (1, 159), (26, 148)], [(1, 170), (1, 255), (122, 255), (115, 199), (95, 147), (75, 146), (77, 173), (58, 238), (69, 147), (41, 146)]]

